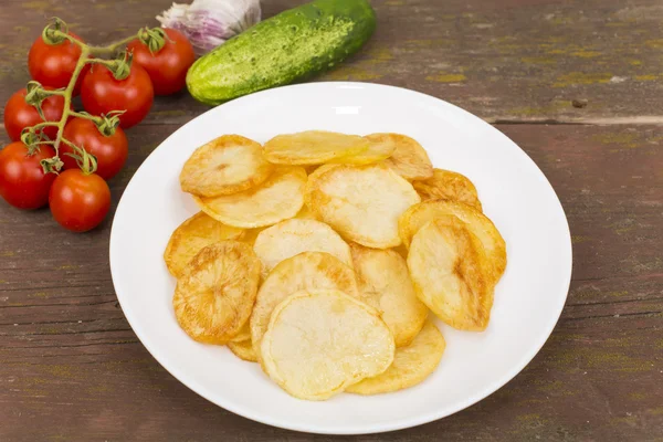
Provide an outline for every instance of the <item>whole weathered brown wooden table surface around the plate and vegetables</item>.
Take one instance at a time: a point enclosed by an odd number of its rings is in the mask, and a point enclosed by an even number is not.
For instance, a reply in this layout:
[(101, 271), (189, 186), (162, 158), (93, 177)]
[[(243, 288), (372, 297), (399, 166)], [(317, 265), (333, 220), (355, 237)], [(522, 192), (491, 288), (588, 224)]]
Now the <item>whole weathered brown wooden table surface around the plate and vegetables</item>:
[[(29, 80), (27, 53), (46, 18), (101, 44), (155, 25), (170, 2), (3, 0), (0, 98)], [(263, 3), (270, 17), (302, 1)], [(357, 440), (663, 441), (660, 0), (373, 4), (370, 43), (318, 80), (409, 87), (495, 124), (557, 190), (575, 265), (555, 333), (513, 381), (450, 418)], [(145, 157), (206, 109), (186, 93), (156, 101), (128, 133), (115, 203)], [(166, 372), (115, 297), (110, 220), (72, 234), (48, 209), (0, 202), (0, 441), (336, 439), (240, 418)]]

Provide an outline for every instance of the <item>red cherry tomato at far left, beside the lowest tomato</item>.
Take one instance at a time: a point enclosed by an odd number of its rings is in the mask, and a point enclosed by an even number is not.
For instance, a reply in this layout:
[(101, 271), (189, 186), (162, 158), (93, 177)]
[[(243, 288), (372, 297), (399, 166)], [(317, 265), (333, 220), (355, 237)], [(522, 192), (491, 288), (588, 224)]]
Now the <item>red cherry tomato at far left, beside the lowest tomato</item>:
[(55, 156), (50, 146), (28, 155), (28, 146), (17, 141), (0, 150), (0, 196), (19, 209), (39, 209), (49, 202), (55, 173), (44, 173), (40, 161)]

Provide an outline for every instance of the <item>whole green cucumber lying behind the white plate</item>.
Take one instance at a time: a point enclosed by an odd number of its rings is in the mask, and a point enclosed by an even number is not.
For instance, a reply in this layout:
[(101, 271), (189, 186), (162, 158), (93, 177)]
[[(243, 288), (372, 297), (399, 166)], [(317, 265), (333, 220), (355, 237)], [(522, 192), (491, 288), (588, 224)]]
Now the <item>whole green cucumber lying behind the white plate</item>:
[(357, 52), (376, 28), (368, 0), (315, 0), (262, 21), (196, 61), (187, 87), (218, 105), (324, 72)]

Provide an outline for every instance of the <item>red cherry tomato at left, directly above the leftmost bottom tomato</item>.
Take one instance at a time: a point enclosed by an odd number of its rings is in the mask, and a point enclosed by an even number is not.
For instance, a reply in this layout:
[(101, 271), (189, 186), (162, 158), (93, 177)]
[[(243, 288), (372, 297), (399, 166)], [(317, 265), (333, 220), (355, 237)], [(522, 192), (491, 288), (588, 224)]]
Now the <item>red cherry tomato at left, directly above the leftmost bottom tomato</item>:
[[(29, 126), (43, 123), (39, 116), (36, 108), (25, 103), (25, 88), (14, 93), (4, 105), (4, 129), (12, 141), (21, 139), (21, 131)], [(62, 118), (62, 109), (64, 108), (64, 97), (60, 95), (51, 95), (42, 102), (42, 110), (46, 122), (60, 122)], [(46, 127), (44, 133), (54, 139), (57, 135), (57, 127)]]

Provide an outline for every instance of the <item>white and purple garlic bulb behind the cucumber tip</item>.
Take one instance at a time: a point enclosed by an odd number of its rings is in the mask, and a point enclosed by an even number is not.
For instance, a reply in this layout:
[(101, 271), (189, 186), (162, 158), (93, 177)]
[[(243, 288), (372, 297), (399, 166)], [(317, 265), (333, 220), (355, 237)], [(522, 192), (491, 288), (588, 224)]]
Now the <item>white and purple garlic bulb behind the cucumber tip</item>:
[(157, 15), (164, 28), (182, 32), (202, 55), (260, 22), (260, 0), (193, 0), (172, 3)]

